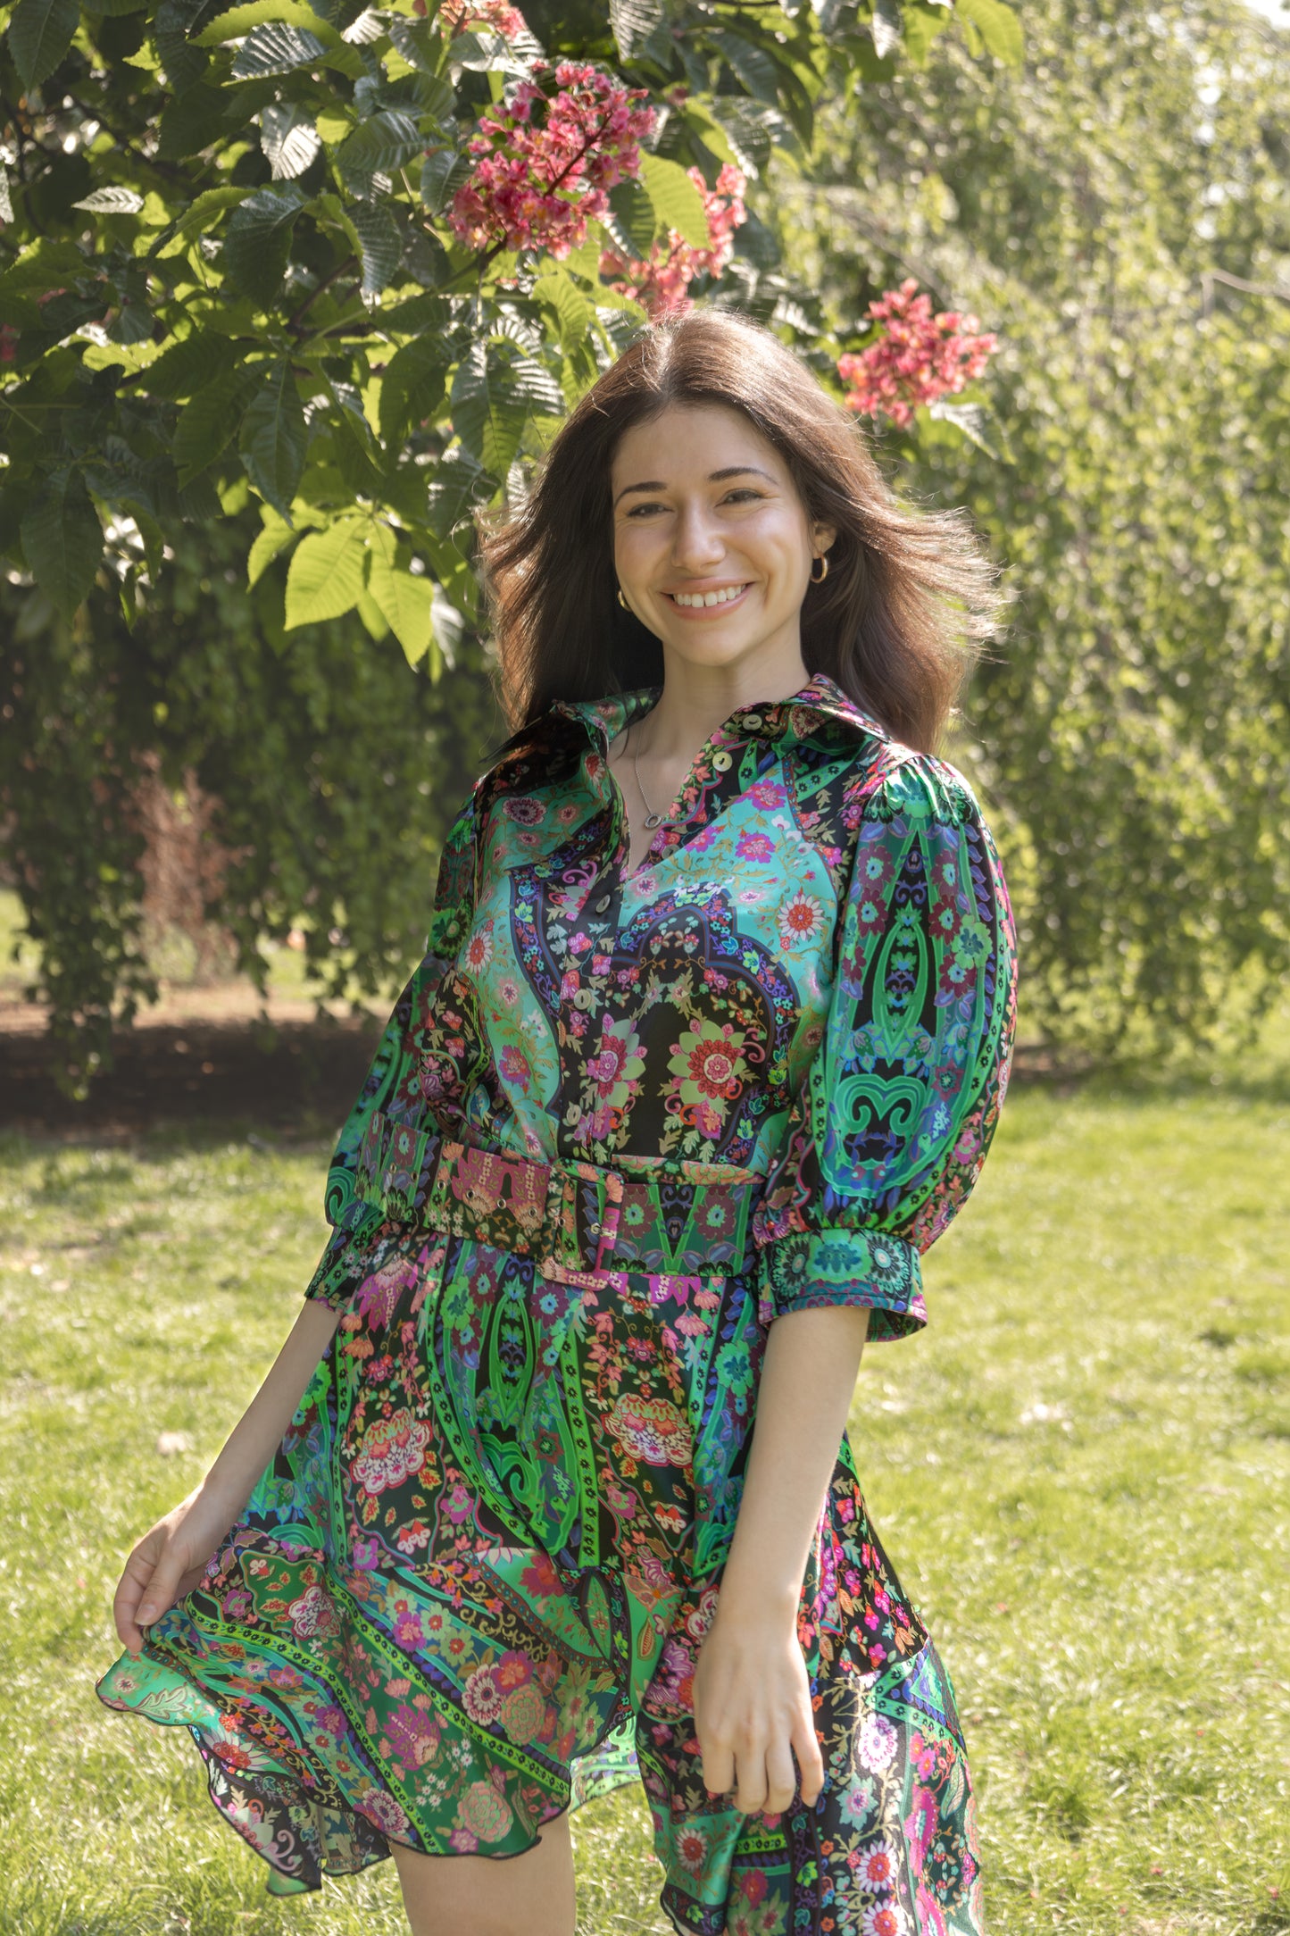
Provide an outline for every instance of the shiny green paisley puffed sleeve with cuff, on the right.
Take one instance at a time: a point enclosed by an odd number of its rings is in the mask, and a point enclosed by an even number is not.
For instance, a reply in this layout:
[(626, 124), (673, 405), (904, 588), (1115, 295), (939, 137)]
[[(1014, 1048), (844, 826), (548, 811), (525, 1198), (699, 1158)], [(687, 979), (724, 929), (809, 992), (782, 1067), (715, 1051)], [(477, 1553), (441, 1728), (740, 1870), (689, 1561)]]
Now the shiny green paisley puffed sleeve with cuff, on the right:
[(754, 1220), (762, 1318), (868, 1305), (926, 1322), (921, 1255), (973, 1189), (1015, 1026), (998, 852), (953, 767), (903, 747), (865, 786), (820, 1045)]

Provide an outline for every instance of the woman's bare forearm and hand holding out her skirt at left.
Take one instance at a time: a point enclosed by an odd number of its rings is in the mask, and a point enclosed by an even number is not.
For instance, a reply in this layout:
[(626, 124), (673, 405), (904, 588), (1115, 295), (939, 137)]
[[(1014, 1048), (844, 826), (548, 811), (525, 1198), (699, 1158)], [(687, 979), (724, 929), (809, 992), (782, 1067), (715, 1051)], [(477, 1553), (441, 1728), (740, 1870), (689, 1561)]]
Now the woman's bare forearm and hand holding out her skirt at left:
[(269, 1376), (211, 1471), (132, 1551), (112, 1599), (118, 1638), (132, 1653), (143, 1646), (141, 1628), (159, 1620), (201, 1580), (207, 1560), (282, 1442), (338, 1322), (340, 1313), (321, 1299), (304, 1303)]

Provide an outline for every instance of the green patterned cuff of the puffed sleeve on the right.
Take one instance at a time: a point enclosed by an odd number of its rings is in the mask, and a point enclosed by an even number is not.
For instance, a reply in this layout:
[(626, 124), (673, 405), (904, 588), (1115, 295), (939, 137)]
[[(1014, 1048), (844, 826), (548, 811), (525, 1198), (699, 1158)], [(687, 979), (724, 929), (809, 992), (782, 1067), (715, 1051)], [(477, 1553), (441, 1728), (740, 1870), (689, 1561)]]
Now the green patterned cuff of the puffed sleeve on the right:
[(919, 1253), (876, 1229), (795, 1229), (762, 1251), (760, 1318), (820, 1305), (866, 1305), (868, 1338), (903, 1338), (926, 1324)]

